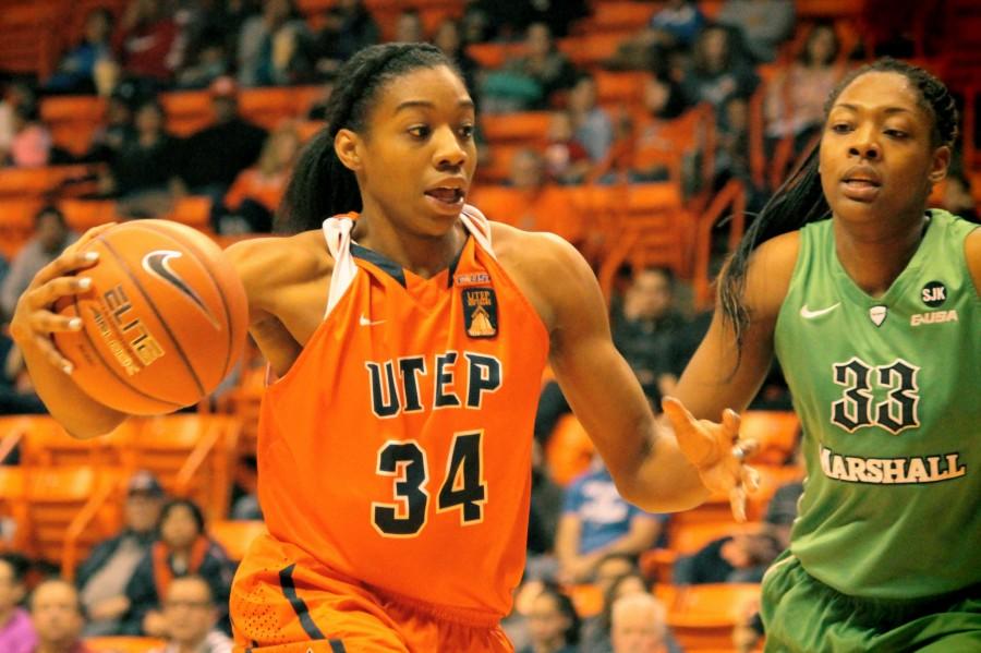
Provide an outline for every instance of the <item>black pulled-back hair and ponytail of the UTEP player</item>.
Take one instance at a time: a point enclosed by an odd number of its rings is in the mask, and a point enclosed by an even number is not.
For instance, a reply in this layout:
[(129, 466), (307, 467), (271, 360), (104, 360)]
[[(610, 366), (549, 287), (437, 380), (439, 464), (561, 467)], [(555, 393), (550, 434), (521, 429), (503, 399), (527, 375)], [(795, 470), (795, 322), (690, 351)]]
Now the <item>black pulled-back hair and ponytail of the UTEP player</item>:
[(327, 102), (327, 124), (304, 147), (276, 216), (276, 231), (299, 233), (324, 219), (362, 208), (354, 173), (341, 164), (334, 141), (341, 129), (364, 132), (378, 89), (420, 68), (445, 65), (460, 74), (436, 46), (385, 44), (354, 55), (339, 71)]

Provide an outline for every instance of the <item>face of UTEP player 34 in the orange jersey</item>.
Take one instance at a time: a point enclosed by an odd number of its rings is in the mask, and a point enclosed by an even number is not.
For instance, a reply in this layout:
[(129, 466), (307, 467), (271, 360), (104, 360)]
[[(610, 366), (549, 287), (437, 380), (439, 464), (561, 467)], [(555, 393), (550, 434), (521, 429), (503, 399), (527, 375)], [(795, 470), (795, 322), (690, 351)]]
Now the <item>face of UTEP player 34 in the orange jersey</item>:
[(365, 213), (378, 211), (423, 237), (449, 231), (476, 167), (473, 101), (449, 68), (424, 68), (389, 82), (354, 136)]

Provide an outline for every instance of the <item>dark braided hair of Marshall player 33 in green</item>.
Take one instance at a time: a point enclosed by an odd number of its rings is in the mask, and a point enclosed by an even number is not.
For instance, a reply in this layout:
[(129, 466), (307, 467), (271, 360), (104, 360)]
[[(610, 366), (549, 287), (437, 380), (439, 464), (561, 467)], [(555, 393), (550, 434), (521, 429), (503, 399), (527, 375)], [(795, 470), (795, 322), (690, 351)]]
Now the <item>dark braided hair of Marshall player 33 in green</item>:
[[(824, 104), (825, 121), (841, 92), (858, 77), (873, 72), (897, 73), (906, 77), (919, 95), (919, 105), (933, 120), (931, 145), (934, 148), (954, 146), (958, 113), (947, 87), (925, 70), (891, 57), (879, 59), (846, 75)], [(740, 355), (750, 323), (743, 293), (746, 273), (753, 251), (772, 238), (800, 229), (809, 222), (826, 219), (831, 215), (831, 206), (824, 197), (818, 172), (819, 156), (820, 147), (814, 147), (800, 168), (777, 189), (747, 229), (719, 278), (718, 299), (723, 321), (731, 325)]]

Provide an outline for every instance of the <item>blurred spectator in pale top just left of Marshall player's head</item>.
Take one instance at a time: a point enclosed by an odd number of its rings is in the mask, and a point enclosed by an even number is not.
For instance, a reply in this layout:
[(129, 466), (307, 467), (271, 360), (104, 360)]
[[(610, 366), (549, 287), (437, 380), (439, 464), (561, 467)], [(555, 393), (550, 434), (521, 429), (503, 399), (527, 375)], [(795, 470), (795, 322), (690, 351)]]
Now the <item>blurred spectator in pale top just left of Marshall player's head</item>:
[(824, 124), (824, 101), (844, 72), (836, 65), (840, 44), (829, 23), (808, 33), (797, 59), (766, 87), (764, 111), (768, 150), (775, 141), (792, 136), (800, 153)]

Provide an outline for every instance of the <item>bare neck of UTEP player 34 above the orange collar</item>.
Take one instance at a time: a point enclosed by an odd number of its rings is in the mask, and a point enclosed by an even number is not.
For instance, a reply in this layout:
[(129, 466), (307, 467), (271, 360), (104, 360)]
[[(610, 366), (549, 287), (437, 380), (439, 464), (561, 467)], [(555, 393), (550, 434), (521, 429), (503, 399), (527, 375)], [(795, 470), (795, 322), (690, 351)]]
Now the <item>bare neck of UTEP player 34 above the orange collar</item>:
[(359, 244), (424, 279), (449, 267), (467, 240), (460, 222), (439, 237), (411, 233), (384, 219), (363, 216), (358, 222), (353, 237)]

